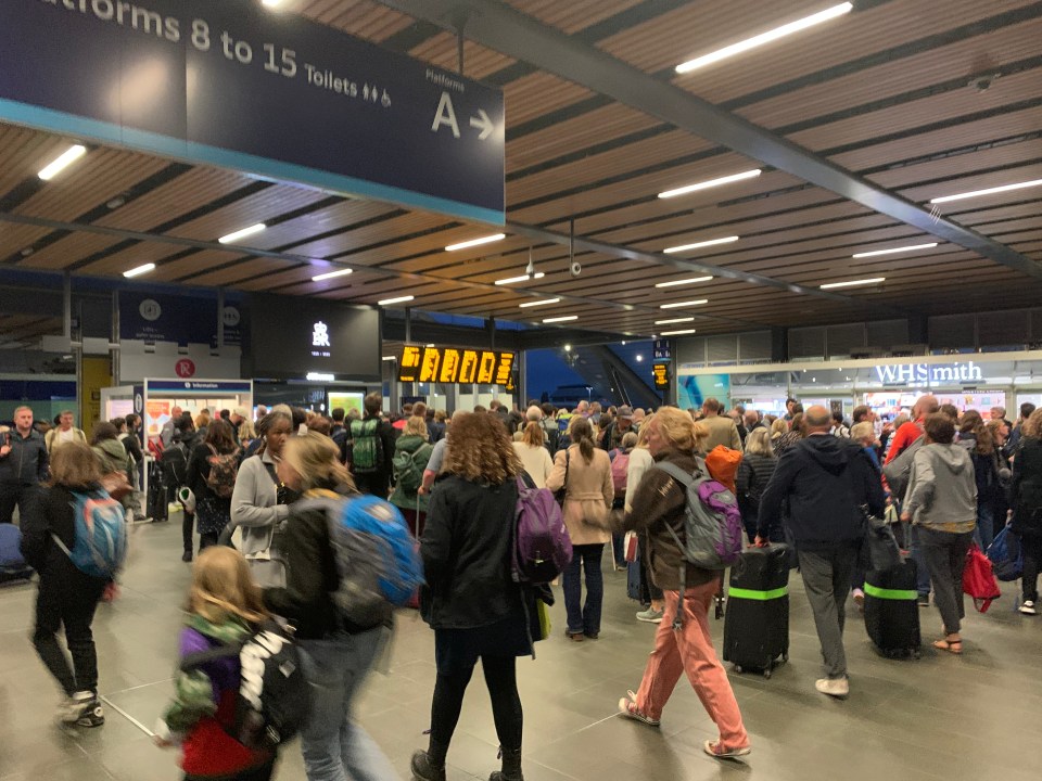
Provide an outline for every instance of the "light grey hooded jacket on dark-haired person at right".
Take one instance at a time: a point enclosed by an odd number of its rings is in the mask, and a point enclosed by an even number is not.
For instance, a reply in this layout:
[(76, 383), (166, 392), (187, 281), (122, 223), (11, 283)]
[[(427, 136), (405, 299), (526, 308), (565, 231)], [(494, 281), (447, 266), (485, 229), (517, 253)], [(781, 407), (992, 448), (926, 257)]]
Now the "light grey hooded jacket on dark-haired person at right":
[(938, 532), (973, 532), (977, 523), (974, 462), (958, 445), (924, 445), (915, 453), (904, 510)]

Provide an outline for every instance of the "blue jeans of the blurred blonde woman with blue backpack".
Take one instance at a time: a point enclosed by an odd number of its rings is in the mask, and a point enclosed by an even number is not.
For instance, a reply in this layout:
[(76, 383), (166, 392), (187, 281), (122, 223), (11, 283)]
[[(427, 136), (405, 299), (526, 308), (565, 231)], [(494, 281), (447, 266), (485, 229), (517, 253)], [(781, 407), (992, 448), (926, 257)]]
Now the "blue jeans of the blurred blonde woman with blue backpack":
[(383, 629), (377, 628), (301, 640), (304, 677), (312, 691), (312, 712), (301, 730), (308, 781), (398, 778), (380, 746), (351, 719), (352, 700), (372, 666), (382, 633)]

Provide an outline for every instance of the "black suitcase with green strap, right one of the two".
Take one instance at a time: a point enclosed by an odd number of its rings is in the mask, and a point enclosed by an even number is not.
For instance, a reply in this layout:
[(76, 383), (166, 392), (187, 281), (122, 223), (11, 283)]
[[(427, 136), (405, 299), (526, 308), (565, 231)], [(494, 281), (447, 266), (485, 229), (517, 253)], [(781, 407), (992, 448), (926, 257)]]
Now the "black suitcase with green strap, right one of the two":
[(915, 560), (865, 575), (865, 629), (879, 651), (890, 658), (918, 658), (919, 605)]

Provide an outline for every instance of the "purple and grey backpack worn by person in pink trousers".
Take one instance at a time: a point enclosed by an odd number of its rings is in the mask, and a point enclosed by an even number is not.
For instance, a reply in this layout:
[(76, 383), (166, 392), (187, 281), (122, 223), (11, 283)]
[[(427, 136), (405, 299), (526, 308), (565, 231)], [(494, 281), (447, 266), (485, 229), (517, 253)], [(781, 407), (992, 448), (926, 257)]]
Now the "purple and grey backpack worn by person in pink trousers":
[(672, 535), (685, 559), (681, 564), (681, 604), (676, 611), (674, 627), (679, 627), (684, 616), (684, 591), (687, 584), (687, 564), (703, 569), (726, 569), (736, 564), (741, 556), (745, 527), (738, 500), (723, 483), (709, 476), (706, 462), (696, 459), (694, 474), (688, 474), (676, 464), (662, 461), (655, 465), (687, 490), (684, 512), (684, 540), (669, 524), (665, 528)]

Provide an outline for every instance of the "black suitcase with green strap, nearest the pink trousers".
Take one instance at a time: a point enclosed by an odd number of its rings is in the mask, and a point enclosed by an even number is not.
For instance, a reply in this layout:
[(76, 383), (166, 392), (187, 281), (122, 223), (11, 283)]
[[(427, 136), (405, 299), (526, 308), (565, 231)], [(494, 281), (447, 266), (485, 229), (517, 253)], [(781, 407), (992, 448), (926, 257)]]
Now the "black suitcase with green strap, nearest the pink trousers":
[(789, 549), (750, 548), (730, 569), (724, 661), (770, 678), (789, 658)]

